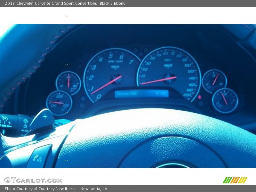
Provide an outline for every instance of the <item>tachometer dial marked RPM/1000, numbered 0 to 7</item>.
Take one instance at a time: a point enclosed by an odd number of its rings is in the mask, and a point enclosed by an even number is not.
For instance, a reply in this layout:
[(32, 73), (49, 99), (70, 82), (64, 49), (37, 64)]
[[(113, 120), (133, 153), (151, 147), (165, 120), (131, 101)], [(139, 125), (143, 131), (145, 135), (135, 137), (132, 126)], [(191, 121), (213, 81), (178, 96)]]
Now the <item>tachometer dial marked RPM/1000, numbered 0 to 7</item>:
[(135, 71), (140, 59), (125, 49), (107, 49), (96, 54), (84, 71), (84, 89), (94, 103), (109, 91), (136, 86)]

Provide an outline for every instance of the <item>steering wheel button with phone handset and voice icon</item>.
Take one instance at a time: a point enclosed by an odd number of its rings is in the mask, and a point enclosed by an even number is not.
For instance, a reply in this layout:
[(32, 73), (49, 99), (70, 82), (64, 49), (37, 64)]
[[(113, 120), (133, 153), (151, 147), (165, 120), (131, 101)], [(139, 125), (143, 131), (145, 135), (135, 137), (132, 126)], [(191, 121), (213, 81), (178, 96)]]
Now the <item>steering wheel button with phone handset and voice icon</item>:
[(52, 145), (45, 145), (36, 148), (27, 164), (27, 168), (44, 168), (47, 156), (52, 148)]

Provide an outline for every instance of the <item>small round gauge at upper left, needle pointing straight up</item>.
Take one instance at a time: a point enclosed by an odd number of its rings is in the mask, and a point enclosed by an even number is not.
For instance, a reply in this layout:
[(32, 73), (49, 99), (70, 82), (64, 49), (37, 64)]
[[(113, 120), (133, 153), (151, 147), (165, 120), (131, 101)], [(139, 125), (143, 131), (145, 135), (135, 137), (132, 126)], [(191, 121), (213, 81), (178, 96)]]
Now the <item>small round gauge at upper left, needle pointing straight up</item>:
[(65, 91), (71, 95), (76, 94), (81, 88), (81, 80), (79, 76), (72, 71), (61, 73), (56, 79), (56, 88)]

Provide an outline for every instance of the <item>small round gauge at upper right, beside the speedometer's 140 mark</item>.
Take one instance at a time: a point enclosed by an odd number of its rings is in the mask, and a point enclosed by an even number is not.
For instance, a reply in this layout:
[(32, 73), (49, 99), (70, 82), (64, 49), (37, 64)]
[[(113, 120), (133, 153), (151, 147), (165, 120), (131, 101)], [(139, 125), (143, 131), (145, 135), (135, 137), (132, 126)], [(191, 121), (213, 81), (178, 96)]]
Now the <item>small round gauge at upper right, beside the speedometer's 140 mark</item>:
[(211, 69), (207, 71), (202, 79), (203, 87), (205, 91), (209, 93), (213, 93), (220, 88), (226, 87), (227, 82), (226, 75), (218, 69)]

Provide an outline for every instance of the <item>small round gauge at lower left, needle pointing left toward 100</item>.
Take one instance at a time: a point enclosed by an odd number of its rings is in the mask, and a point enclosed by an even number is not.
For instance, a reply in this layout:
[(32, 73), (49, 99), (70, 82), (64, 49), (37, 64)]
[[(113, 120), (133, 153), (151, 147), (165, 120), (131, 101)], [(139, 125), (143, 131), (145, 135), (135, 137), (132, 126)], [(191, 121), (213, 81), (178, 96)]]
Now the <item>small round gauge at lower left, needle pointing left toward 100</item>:
[(54, 91), (46, 99), (46, 107), (53, 115), (62, 116), (67, 114), (72, 107), (72, 99), (67, 92)]

